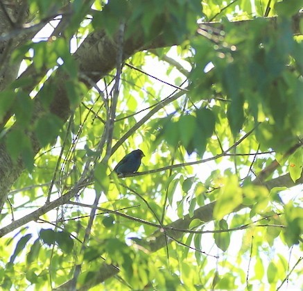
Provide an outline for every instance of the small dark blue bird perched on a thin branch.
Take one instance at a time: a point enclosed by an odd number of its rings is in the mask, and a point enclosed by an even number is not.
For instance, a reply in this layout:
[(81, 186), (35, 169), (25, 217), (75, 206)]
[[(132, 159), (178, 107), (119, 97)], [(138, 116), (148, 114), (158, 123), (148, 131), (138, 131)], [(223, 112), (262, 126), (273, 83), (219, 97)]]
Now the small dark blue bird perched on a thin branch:
[(141, 159), (144, 157), (141, 149), (136, 149), (128, 153), (120, 162), (114, 167), (116, 174), (131, 174), (137, 172), (141, 165)]

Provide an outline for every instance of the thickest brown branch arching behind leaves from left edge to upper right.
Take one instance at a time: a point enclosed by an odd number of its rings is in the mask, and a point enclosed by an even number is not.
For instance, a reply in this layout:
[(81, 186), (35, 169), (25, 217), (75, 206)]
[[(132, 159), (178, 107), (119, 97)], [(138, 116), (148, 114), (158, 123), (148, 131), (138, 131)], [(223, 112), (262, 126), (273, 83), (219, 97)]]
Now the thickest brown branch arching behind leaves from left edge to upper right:
[[(103, 13), (106, 13), (106, 9), (103, 11)], [(302, 18), (302, 15), (303, 13), (300, 13), (297, 17), (294, 17), (294, 33), (297, 33), (297, 28), (300, 28), (297, 23)], [(163, 22), (166, 21), (165, 15), (162, 15), (162, 20)], [(241, 22), (239, 22), (239, 24), (240, 23)], [(207, 26), (208, 24), (203, 25)], [(235, 25), (238, 25), (238, 23), (235, 23)], [(134, 26), (135, 28), (137, 28), (137, 32), (133, 31)], [(159, 28), (160, 30), (158, 32), (157, 38), (153, 38), (153, 40), (147, 40), (146, 38), (144, 38), (144, 35), (142, 35), (141, 28), (138, 27), (137, 24), (128, 23), (128, 27), (125, 29), (125, 35), (128, 35), (127, 31), (130, 27), (132, 27), (133, 33), (132, 37), (129, 37), (125, 40), (125, 44), (123, 47), (123, 60), (126, 60), (135, 52), (142, 49), (153, 49), (157, 47), (166, 47), (171, 46), (173, 44), (178, 44), (177, 41), (174, 42), (173, 40), (171, 40), (171, 38), (166, 38), (165, 31), (162, 31), (162, 28)], [(118, 44), (119, 43), (117, 41), (117, 38), (112, 38), (110, 35), (107, 35), (105, 31), (95, 31), (94, 33), (91, 33), (85, 39), (83, 44), (81, 44), (76, 53), (74, 53), (73, 55), (73, 58), (78, 62), (80, 73), (86, 74), (86, 76), (88, 76), (95, 82), (98, 81), (100, 78), (103, 78), (103, 76), (108, 74), (115, 67), (116, 55), (119, 51)], [(31, 69), (33, 70), (33, 68)], [(67, 76), (66, 74), (64, 74), (64, 72), (60, 71), (62, 70), (58, 69), (57, 74), (55, 74), (55, 78), (50, 78), (50, 80), (46, 81), (46, 83), (49, 83), (49, 85), (53, 85), (56, 88), (55, 98), (53, 99), (53, 103), (51, 104), (50, 108), (51, 112), (60, 117), (65, 122), (69, 117), (71, 108), (68, 99), (67, 89), (65, 88)], [(31, 76), (33, 75), (36, 76), (39, 74), (35, 74), (35, 72), (33, 74), (33, 72), (31, 72)], [(24, 74), (24, 76), (26, 76), (26, 73)], [(83, 82), (87, 83), (86, 80), (83, 80)], [(39, 95), (36, 99), (36, 103), (39, 103)], [(35, 117), (39, 117), (39, 110), (42, 110), (42, 106), (36, 106), (35, 108)], [(37, 144), (37, 141), (35, 140), (35, 135), (32, 135), (32, 137), (33, 144), (35, 144), (34, 153), (37, 153), (41, 147)], [(114, 146), (114, 150), (118, 146), (119, 144), (116, 144)], [(0, 169), (0, 174), (2, 174), (0, 175), (0, 207), (2, 208), (12, 183), (14, 183), (19, 177), (19, 175), (24, 169), (24, 165), (22, 163), (17, 163), (15, 165), (12, 163), (12, 160), (10, 160), (10, 156), (8, 155), (8, 152), (5, 147), (5, 139), (1, 140), (0, 156), (0, 162), (2, 165)]]

